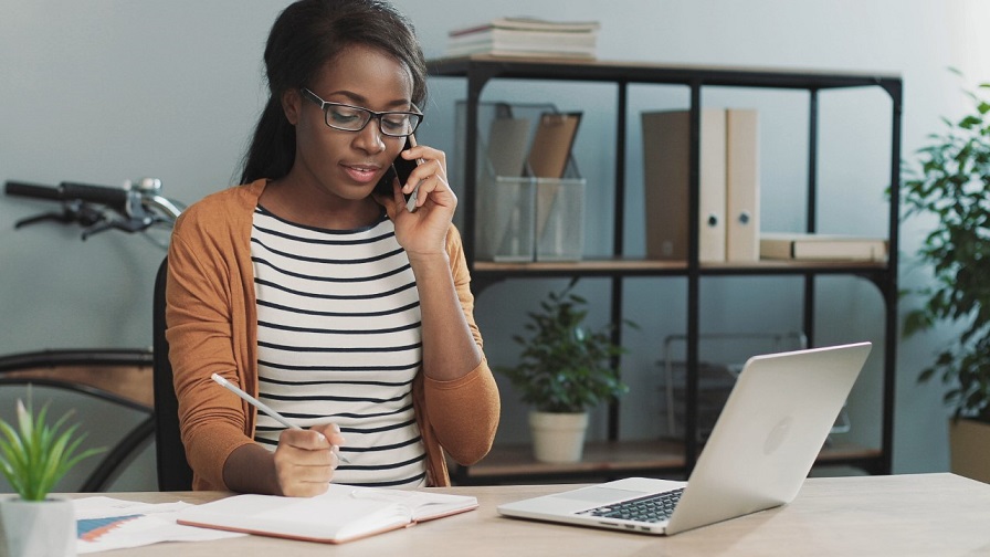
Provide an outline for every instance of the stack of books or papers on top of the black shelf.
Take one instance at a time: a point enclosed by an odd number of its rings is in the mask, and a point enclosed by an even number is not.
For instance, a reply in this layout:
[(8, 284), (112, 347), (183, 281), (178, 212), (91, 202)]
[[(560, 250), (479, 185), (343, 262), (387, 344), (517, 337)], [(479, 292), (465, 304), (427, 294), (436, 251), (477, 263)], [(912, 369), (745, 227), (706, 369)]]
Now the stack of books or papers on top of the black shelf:
[(551, 56), (594, 59), (597, 21), (557, 22), (531, 18), (498, 18), (449, 33), (446, 55)]

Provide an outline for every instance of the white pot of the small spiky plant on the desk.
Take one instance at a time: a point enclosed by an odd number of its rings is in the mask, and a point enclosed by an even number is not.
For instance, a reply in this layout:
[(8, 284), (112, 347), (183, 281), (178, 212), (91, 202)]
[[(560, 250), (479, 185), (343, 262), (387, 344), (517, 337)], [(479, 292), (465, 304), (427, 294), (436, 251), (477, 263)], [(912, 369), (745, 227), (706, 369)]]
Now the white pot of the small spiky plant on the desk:
[(10, 557), (74, 557), (76, 554), (75, 509), (71, 500), (0, 498), (0, 521)]

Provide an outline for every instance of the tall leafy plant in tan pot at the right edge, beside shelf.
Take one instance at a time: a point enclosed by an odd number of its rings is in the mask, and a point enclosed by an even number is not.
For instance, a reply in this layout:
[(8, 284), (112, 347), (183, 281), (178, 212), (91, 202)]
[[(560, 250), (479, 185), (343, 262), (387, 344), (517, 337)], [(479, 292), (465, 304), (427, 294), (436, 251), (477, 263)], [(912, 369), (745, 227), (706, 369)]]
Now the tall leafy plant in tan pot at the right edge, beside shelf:
[[(905, 316), (904, 335), (939, 323), (961, 327), (919, 381), (939, 378), (944, 400), (952, 408), (950, 445), (952, 470), (990, 481), (990, 102), (982, 84), (966, 92), (973, 108), (957, 122), (944, 118), (946, 129), (929, 136), (918, 150), (919, 170), (902, 186), (906, 217), (935, 216), (938, 223), (918, 251), (920, 263), (934, 270), (934, 282), (916, 290), (921, 307)], [(986, 438), (986, 449), (977, 440)], [(963, 453), (959, 450), (965, 449)], [(980, 452), (982, 451), (982, 452)], [(967, 454), (979, 453), (971, 464)]]

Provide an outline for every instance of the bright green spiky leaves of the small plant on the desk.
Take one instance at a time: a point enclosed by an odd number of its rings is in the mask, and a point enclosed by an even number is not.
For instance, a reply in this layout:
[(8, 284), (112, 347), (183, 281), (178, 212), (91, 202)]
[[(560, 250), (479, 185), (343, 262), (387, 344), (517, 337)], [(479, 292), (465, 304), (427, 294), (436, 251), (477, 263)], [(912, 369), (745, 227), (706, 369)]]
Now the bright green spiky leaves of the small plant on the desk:
[(0, 420), (0, 472), (25, 501), (44, 501), (55, 484), (80, 461), (104, 449), (77, 452), (86, 434), (76, 437), (78, 424), (66, 428), (71, 411), (49, 425), (49, 404), (35, 416), (18, 399), (17, 429)]

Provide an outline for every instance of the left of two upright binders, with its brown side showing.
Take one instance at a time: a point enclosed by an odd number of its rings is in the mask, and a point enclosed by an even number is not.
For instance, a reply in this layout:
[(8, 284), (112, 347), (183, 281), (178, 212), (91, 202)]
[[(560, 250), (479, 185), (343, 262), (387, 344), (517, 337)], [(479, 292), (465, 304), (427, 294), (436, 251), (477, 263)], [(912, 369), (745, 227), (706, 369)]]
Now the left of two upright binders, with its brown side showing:
[[(687, 260), (691, 113), (643, 113), (646, 256)], [(726, 258), (726, 116), (703, 108), (701, 122), (698, 261)]]

